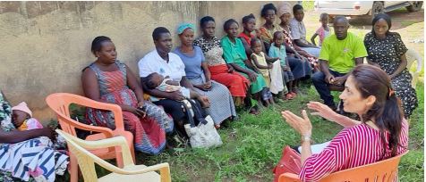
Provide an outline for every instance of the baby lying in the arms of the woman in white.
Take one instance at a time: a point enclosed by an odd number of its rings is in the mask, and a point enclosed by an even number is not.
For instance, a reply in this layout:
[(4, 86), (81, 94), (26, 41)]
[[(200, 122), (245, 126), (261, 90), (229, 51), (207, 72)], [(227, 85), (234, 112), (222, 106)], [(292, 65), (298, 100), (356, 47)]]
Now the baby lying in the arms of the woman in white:
[[(201, 103), (202, 108), (208, 108), (210, 106), (209, 98), (207, 96), (201, 96), (197, 92), (194, 92), (186, 87), (181, 87), (177, 81), (169, 79), (168, 76), (164, 78), (163, 75), (160, 75), (157, 72), (149, 74), (145, 78), (145, 83), (149, 89), (157, 88), (163, 92), (180, 91), (187, 99), (197, 99)], [(149, 98), (152, 102), (156, 102), (162, 99), (152, 95)]]

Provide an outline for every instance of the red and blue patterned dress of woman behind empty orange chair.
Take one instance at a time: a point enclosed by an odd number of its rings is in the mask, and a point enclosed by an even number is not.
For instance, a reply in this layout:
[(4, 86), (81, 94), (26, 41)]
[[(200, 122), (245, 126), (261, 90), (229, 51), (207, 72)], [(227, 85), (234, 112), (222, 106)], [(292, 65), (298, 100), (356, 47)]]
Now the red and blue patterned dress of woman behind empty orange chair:
[[(127, 87), (125, 64), (116, 61), (119, 70), (102, 71), (92, 63), (89, 69), (93, 70), (98, 78), (100, 97), (107, 103), (117, 103), (137, 107), (138, 100), (134, 92)], [(158, 154), (166, 146), (166, 132), (173, 130), (173, 120), (153, 103), (144, 102), (147, 108), (147, 117), (138, 118), (132, 112), (123, 112), (124, 128), (134, 136), (134, 148), (142, 153)], [(104, 112), (88, 108), (86, 112), (87, 124), (100, 127), (115, 128), (112, 112)]]

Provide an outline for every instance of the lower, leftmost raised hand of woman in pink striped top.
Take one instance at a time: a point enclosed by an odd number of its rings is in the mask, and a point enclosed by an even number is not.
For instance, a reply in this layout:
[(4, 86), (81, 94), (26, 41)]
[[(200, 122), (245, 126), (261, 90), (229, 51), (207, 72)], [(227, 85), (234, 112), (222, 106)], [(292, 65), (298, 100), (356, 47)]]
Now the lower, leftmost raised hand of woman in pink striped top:
[(302, 117), (295, 115), (293, 112), (284, 111), (281, 115), (285, 121), (294, 128), (302, 136), (311, 136), (312, 124), (305, 110), (302, 110)]

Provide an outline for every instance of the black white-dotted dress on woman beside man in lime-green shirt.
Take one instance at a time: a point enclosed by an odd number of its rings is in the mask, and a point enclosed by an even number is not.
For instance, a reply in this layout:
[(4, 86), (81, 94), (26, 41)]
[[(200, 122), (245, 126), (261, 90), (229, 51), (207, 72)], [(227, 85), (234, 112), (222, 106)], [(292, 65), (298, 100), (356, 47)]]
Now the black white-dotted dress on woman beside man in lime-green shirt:
[[(364, 45), (370, 61), (379, 64), (380, 68), (385, 70), (388, 75), (397, 70), (401, 63), (401, 55), (408, 50), (401, 36), (396, 32), (389, 33), (385, 39), (378, 39), (370, 32), (365, 35)], [(409, 118), (418, 106), (415, 89), (411, 86), (412, 79), (410, 72), (405, 68), (391, 80), (396, 96), (403, 103), (405, 118)]]

